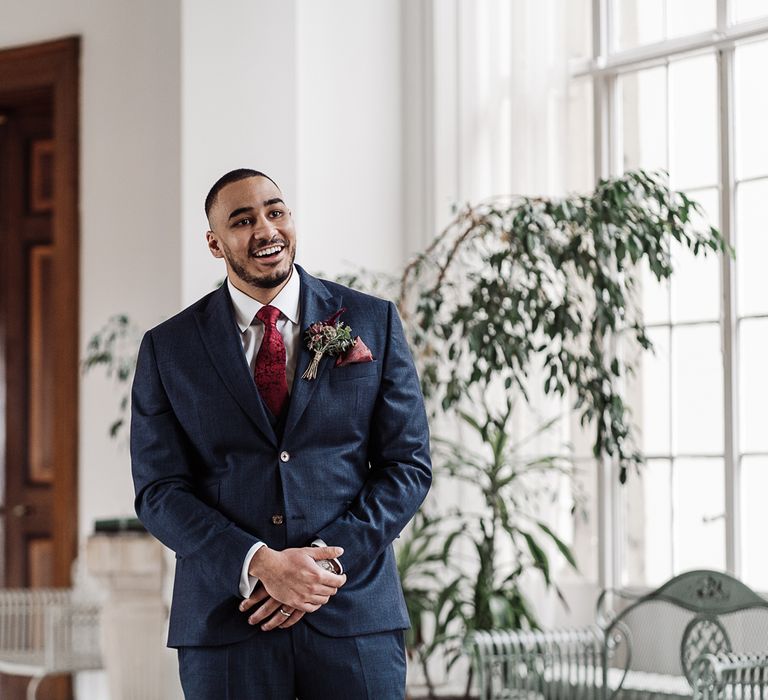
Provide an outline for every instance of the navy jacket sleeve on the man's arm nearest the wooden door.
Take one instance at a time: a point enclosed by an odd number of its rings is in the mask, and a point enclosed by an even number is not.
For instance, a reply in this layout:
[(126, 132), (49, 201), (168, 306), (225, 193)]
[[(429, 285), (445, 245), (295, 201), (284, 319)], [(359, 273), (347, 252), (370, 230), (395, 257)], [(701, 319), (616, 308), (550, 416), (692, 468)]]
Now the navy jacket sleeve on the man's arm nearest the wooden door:
[(243, 559), (259, 540), (201, 500), (193, 448), (168, 399), (152, 331), (142, 340), (131, 407), (131, 465), (136, 513), (149, 532), (232, 595), (240, 595)]

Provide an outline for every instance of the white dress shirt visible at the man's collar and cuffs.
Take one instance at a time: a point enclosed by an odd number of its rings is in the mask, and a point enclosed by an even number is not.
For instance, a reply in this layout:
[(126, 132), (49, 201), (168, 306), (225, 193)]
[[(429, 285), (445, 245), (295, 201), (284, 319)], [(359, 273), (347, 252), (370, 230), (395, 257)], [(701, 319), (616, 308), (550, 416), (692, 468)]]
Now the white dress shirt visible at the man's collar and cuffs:
[[(261, 341), (264, 339), (264, 324), (256, 318), (256, 314), (259, 313), (264, 306), (260, 301), (257, 301), (253, 297), (248, 296), (244, 292), (241, 292), (232, 282), (227, 279), (227, 287), (229, 288), (229, 296), (232, 299), (232, 306), (235, 310), (235, 321), (237, 327), (240, 329), (240, 339), (243, 342), (243, 350), (245, 351), (245, 359), (248, 362), (248, 366), (251, 368), (251, 376), (253, 376), (254, 365), (256, 363), (256, 355), (259, 353), (261, 347)], [(277, 319), (275, 325), (280, 335), (283, 337), (283, 343), (285, 345), (285, 377), (288, 382), (288, 393), (291, 393), (293, 388), (293, 379), (296, 374), (296, 361), (299, 356), (299, 343), (301, 342), (301, 329), (299, 328), (299, 318), (301, 313), (301, 283), (299, 281), (299, 273), (296, 268), (293, 268), (291, 276), (288, 278), (288, 284), (283, 287), (279, 294), (269, 303), (270, 306), (274, 306), (280, 311), (280, 316)], [(325, 542), (321, 539), (316, 539), (313, 543), (318, 547), (325, 547)], [(240, 595), (243, 598), (247, 598), (253, 593), (253, 589), (256, 588), (256, 584), (259, 579), (255, 576), (251, 576), (248, 573), (248, 567), (251, 563), (251, 559), (256, 552), (265, 546), (264, 542), (258, 542), (248, 550), (243, 561), (243, 568), (240, 573)], [(334, 560), (341, 564), (338, 560)]]

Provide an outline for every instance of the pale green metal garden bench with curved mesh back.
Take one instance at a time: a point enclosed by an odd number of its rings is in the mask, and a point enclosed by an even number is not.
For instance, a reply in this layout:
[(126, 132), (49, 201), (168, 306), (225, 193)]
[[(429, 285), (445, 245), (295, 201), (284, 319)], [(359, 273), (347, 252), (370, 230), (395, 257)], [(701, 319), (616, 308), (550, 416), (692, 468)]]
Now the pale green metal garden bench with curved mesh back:
[(476, 632), (467, 650), (483, 700), (768, 700), (768, 601), (717, 571), (604, 591), (589, 628)]

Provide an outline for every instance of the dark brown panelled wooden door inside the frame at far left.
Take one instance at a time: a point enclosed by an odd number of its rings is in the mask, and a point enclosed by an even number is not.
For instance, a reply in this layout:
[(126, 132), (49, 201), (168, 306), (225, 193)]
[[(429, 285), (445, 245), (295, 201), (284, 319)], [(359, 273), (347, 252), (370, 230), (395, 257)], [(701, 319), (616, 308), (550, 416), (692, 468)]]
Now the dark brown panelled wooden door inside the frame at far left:
[[(46, 96), (0, 98), (0, 249), (4, 253), (6, 456), (2, 585), (41, 588), (53, 575), (53, 403), (50, 349), (54, 142)], [(10, 409), (10, 410), (8, 410)]]

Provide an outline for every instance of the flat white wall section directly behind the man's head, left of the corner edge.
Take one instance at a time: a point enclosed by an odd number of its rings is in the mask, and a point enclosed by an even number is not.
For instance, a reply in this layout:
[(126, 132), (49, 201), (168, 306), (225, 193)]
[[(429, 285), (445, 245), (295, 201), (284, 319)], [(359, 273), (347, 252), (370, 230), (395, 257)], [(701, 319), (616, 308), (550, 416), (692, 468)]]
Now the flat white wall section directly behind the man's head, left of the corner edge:
[(205, 244), (211, 185), (235, 168), (278, 183), (295, 209), (295, 0), (183, 0), (182, 298), (187, 306), (225, 275)]

